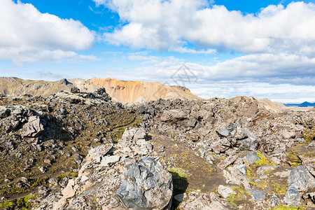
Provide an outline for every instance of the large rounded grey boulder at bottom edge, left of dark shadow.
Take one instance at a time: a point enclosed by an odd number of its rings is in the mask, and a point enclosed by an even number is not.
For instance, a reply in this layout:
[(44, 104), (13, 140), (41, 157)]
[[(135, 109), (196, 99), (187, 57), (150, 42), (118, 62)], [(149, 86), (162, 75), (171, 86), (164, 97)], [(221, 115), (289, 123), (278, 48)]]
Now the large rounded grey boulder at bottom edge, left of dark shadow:
[(152, 158), (125, 167), (116, 196), (125, 209), (165, 209), (172, 200), (172, 175)]

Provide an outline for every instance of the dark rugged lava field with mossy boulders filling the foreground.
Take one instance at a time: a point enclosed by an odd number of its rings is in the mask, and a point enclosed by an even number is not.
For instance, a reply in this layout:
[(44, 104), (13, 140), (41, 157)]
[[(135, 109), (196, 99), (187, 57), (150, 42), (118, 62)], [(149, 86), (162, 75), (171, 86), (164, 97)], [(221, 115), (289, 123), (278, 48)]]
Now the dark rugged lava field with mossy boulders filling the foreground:
[(1, 95), (0, 126), (0, 209), (315, 208), (315, 109), (72, 88)]

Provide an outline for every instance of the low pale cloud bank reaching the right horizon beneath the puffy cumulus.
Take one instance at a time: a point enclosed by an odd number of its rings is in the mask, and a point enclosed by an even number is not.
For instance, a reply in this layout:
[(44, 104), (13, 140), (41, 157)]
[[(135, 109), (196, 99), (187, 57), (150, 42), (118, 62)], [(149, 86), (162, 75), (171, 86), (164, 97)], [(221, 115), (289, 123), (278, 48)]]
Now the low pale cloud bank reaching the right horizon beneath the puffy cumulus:
[(104, 77), (111, 75), (123, 80), (183, 85), (204, 98), (246, 95), (260, 99), (267, 97), (276, 102), (311, 102), (315, 99), (315, 59), (301, 55), (244, 55), (211, 66), (188, 62), (186, 66), (190, 71), (187, 72), (178, 71), (184, 60), (174, 57), (136, 52), (128, 59), (137, 60), (141, 65), (118, 72), (107, 71)]

